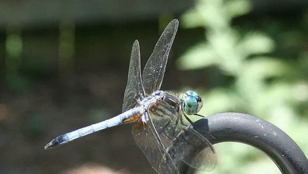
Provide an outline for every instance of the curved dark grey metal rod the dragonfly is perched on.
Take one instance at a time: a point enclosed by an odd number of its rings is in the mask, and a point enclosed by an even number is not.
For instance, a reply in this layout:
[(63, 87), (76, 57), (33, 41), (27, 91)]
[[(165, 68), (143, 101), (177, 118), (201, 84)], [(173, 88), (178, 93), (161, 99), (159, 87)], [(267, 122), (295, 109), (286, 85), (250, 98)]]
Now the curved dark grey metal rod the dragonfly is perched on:
[[(233, 141), (262, 150), (284, 174), (308, 173), (308, 160), (300, 147), (277, 126), (261, 118), (220, 113), (200, 119), (192, 126), (213, 144)], [(179, 166), (181, 173), (187, 173), (187, 165)]]

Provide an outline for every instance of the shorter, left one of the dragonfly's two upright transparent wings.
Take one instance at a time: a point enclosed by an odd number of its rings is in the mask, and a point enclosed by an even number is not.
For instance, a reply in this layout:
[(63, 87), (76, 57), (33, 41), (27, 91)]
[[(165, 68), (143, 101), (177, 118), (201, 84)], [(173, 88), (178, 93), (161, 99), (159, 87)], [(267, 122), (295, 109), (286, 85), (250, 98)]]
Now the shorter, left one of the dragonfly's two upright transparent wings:
[(135, 40), (130, 54), (128, 79), (124, 92), (122, 112), (125, 112), (136, 105), (136, 99), (142, 97), (140, 95), (144, 95), (144, 90), (141, 80), (139, 42), (138, 40)]

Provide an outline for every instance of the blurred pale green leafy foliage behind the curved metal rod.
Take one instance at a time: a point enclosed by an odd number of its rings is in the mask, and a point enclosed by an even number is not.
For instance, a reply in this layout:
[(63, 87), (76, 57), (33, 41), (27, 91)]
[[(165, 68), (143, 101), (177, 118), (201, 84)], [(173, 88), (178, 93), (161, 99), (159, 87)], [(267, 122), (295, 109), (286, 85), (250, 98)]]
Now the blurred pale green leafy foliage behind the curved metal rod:
[[(277, 33), (279, 25), (273, 29), (275, 22), (268, 22), (267, 33), (252, 28), (244, 32), (232, 25), (233, 19), (251, 8), (251, 3), (244, 0), (198, 0), (196, 7), (182, 16), (181, 24), (185, 28), (204, 28), (204, 39), (180, 57), (178, 67), (216, 67), (221, 76), (232, 79), (209, 91), (199, 89), (204, 99), (201, 114), (233, 111), (261, 117), (284, 130), (308, 154), (308, 54), (300, 47), (305, 30), (285, 31), (282, 38), (286, 42), (280, 43), (274, 39), (281, 34)], [(303, 21), (300, 25), (307, 25), (308, 20)], [(287, 46), (298, 46), (298, 57), (287, 60), (277, 52)], [(269, 158), (253, 147), (239, 143), (215, 147), (218, 165), (210, 173), (280, 173)]]

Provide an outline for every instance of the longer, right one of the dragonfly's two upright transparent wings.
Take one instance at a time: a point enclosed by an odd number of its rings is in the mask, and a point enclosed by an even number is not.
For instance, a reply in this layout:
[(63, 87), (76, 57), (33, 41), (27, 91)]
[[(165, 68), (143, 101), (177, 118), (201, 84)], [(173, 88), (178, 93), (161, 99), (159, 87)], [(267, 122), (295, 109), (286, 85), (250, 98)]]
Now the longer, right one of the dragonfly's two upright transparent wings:
[(178, 26), (178, 19), (170, 21), (145, 64), (142, 78), (146, 94), (151, 94), (152, 92), (159, 90), (161, 87), (168, 55), (175, 39)]

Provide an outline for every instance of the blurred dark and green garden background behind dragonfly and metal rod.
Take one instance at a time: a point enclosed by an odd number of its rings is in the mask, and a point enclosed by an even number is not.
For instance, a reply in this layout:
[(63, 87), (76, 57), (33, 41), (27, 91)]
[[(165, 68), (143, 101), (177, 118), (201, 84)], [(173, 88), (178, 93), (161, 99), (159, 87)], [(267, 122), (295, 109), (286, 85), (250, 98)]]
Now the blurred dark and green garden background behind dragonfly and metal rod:
[[(4, 1), (0, 9), (1, 173), (155, 173), (131, 124), (44, 146), (121, 113), (133, 41), (144, 66), (173, 18), (180, 26), (162, 90), (196, 90), (205, 116), (261, 117), (308, 154), (305, 0)], [(208, 173), (280, 173), (253, 147), (215, 148)]]

